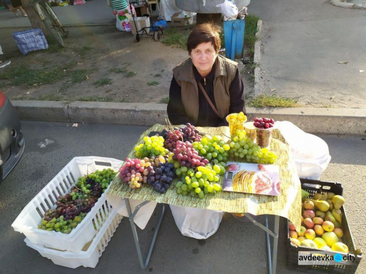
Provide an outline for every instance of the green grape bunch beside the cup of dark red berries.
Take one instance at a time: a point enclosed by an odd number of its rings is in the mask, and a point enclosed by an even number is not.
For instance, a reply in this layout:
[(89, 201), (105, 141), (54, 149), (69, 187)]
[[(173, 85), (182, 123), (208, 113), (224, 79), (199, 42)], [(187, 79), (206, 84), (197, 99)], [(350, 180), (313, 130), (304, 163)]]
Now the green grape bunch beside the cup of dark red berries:
[(250, 138), (246, 137), (244, 131), (237, 132), (229, 143), (230, 157), (239, 157), (249, 163), (272, 164), (277, 156), (267, 148), (261, 148)]

